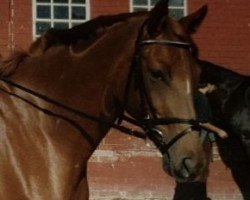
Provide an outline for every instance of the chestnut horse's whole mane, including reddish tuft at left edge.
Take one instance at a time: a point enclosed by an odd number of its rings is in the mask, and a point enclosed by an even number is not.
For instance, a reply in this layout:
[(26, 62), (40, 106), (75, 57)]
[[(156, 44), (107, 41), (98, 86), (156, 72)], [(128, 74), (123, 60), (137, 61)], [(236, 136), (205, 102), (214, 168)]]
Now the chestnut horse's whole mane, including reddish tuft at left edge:
[(0, 57), (0, 75), (11, 75), (26, 57), (41, 55), (52, 46), (71, 45), (79, 40), (86, 41), (86, 44), (90, 45), (105, 34), (108, 27), (145, 14), (146, 12), (137, 12), (100, 16), (71, 29), (49, 29), (30, 45), (28, 52), (18, 50), (7, 58)]

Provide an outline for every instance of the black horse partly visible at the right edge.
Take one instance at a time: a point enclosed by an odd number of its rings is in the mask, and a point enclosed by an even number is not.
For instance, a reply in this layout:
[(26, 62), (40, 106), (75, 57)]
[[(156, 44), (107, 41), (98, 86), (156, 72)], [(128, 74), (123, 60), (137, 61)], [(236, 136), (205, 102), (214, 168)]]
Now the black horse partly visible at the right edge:
[(250, 76), (223, 66), (200, 61), (201, 82), (213, 83), (217, 90), (209, 95), (214, 123), (225, 129), (229, 138), (218, 140), (223, 162), (245, 200), (250, 199)]

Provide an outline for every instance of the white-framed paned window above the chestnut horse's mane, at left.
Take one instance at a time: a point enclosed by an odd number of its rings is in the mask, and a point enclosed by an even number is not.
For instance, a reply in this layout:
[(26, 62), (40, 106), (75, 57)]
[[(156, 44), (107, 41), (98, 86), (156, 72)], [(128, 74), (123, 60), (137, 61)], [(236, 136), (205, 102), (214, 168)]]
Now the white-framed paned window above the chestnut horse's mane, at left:
[(33, 0), (33, 36), (49, 28), (71, 28), (90, 18), (90, 0)]

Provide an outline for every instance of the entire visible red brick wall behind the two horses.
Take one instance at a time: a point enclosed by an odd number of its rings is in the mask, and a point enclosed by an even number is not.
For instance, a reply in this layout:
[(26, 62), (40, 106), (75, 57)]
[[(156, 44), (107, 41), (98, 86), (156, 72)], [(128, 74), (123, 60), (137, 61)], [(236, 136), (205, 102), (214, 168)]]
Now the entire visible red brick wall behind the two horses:
[[(12, 46), (27, 48), (32, 40), (32, 1), (1, 0), (0, 53)], [(208, 16), (194, 36), (201, 58), (250, 74), (250, 1), (188, 0), (189, 12), (209, 6)], [(11, 15), (13, 8), (13, 18)], [(91, 17), (127, 12), (129, 0), (91, 0)], [(10, 22), (13, 25), (9, 28)], [(12, 35), (13, 34), (13, 35)], [(91, 199), (171, 199), (174, 182), (161, 168), (154, 146), (122, 135), (108, 134), (89, 162)], [(220, 177), (218, 179), (218, 177)], [(211, 165), (208, 191), (214, 200), (240, 200), (229, 170)]]

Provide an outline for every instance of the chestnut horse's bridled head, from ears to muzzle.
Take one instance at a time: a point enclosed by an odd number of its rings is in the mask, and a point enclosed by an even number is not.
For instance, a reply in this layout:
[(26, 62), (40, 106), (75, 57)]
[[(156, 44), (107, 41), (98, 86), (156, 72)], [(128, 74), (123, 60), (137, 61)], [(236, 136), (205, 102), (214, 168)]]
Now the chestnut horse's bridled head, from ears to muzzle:
[[(206, 7), (175, 21), (161, 1), (140, 28), (130, 77), (127, 110), (143, 124), (163, 154), (164, 169), (178, 181), (201, 180), (207, 154), (196, 124), (193, 93), (199, 70), (190, 35)], [(133, 78), (134, 77), (134, 78)]]

